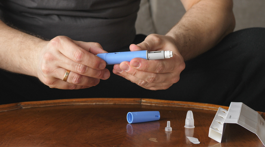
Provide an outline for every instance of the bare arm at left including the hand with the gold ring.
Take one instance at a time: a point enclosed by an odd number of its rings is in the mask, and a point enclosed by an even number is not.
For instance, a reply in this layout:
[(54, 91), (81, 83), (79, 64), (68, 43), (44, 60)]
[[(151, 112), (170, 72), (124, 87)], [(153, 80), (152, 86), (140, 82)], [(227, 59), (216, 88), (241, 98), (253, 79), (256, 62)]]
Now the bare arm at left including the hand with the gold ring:
[[(95, 86), (110, 73), (100, 44), (57, 36), (44, 41), (0, 21), (0, 68), (39, 78), (51, 88), (80, 89)], [(64, 74), (70, 70), (67, 82)]]

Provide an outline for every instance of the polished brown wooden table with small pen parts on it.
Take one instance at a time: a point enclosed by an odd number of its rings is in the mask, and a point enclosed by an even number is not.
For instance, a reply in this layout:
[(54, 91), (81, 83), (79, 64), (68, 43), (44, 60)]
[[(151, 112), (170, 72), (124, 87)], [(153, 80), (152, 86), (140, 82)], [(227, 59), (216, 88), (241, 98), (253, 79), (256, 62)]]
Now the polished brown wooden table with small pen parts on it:
[[(140, 98), (82, 98), (0, 105), (0, 146), (263, 146), (228, 125), (222, 143), (208, 137), (218, 105)], [(222, 108), (228, 109), (226, 106)], [(187, 111), (195, 128), (184, 128)], [(160, 120), (129, 124), (128, 112), (160, 111)], [(264, 113), (259, 112), (264, 118)], [(172, 133), (165, 131), (170, 121)], [(191, 143), (186, 136), (198, 138)]]

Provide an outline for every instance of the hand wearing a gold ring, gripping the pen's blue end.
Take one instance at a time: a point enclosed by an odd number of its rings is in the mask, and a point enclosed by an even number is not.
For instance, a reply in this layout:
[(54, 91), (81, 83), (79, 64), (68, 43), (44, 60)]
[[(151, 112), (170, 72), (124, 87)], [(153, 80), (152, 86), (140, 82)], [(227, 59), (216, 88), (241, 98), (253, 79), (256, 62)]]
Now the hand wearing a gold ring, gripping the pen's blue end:
[[(96, 86), (100, 79), (110, 77), (106, 62), (95, 56), (106, 53), (94, 42), (74, 41), (57, 36), (46, 41), (38, 54), (37, 77), (50, 88), (82, 89)], [(70, 70), (67, 81), (64, 74)]]

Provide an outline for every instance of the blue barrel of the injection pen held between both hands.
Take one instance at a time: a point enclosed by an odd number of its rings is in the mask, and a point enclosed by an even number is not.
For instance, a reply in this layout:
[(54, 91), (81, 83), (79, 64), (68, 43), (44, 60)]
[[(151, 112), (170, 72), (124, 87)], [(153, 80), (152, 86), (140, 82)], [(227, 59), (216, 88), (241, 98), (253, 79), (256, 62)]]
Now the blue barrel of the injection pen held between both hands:
[(106, 61), (107, 65), (120, 64), (123, 61), (131, 61), (133, 58), (147, 59), (147, 51), (125, 51), (114, 53), (97, 54), (98, 57)]

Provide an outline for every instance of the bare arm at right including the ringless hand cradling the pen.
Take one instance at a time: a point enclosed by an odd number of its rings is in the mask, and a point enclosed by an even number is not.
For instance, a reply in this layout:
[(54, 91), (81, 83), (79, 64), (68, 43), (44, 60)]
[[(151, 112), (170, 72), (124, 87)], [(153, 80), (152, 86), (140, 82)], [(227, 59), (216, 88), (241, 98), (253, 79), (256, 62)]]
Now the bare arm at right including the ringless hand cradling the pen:
[(215, 46), (235, 27), (231, 0), (182, 0), (186, 9), (182, 19), (166, 34), (151, 34), (130, 46), (131, 51), (170, 50), (166, 60), (132, 59), (115, 65), (113, 73), (150, 89), (167, 89), (178, 82), (184, 60), (195, 58)]

